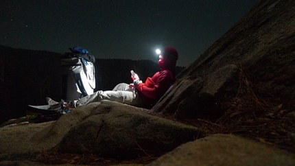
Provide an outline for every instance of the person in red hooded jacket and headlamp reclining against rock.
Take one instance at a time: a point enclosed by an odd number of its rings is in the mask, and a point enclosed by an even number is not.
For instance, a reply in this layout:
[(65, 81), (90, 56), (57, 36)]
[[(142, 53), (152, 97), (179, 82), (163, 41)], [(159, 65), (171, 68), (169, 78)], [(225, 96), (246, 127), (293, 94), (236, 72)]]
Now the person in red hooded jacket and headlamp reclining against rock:
[(176, 60), (178, 60), (178, 51), (174, 47), (165, 47), (158, 60), (161, 71), (156, 72), (152, 78), (147, 78), (145, 82), (142, 82), (139, 75), (131, 71), (132, 84), (117, 84), (113, 91), (97, 91), (65, 104), (65, 106), (66, 108), (77, 108), (89, 103), (99, 102), (102, 99), (108, 99), (132, 106), (150, 108), (174, 83)]

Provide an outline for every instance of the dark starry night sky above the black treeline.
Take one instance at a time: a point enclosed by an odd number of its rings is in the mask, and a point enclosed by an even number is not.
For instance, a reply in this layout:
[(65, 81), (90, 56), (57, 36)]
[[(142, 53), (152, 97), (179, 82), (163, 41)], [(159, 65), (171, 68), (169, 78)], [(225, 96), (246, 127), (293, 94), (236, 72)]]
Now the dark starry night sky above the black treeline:
[(156, 48), (172, 46), (186, 67), (258, 1), (1, 0), (0, 45), (155, 62)]

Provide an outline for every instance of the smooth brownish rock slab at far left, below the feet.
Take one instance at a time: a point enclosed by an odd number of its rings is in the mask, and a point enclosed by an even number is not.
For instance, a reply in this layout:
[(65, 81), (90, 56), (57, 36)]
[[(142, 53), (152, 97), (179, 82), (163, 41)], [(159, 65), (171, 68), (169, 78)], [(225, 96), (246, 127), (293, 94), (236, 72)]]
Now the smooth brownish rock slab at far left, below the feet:
[[(97, 103), (98, 104), (98, 103)], [(0, 160), (8, 156), (42, 152), (56, 147), (67, 132), (90, 115), (97, 104), (91, 104), (58, 121), (19, 123), (0, 128)]]

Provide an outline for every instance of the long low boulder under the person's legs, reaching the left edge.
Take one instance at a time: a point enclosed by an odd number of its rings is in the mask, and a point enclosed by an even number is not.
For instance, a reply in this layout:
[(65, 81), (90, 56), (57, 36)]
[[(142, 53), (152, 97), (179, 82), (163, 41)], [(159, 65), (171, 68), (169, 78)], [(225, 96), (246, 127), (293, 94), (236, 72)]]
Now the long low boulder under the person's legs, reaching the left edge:
[(60, 152), (95, 153), (108, 158), (161, 154), (198, 139), (199, 128), (149, 115), (148, 110), (102, 101), (62, 115), (58, 121), (0, 128), (0, 158), (58, 147)]

